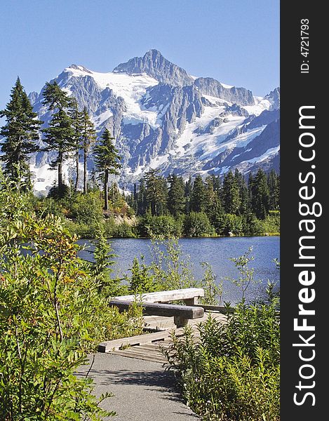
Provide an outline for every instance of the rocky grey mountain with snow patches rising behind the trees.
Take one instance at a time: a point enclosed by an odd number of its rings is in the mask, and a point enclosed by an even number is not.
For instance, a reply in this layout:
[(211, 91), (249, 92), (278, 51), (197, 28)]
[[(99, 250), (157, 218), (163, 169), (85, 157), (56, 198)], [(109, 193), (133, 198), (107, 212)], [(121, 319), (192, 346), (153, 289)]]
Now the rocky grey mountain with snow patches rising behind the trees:
[[(278, 170), (279, 88), (254, 97), (246, 88), (191, 76), (156, 50), (108, 73), (72, 65), (55, 80), (81, 109), (87, 107), (99, 134), (106, 127), (114, 135), (123, 158), (121, 187), (130, 189), (149, 168), (184, 178), (223, 175), (230, 168)], [(29, 98), (46, 126), (51, 114), (42, 94)], [(49, 159), (47, 152), (32, 157), (36, 190), (47, 190), (56, 178)], [(71, 167), (65, 166), (67, 178)]]

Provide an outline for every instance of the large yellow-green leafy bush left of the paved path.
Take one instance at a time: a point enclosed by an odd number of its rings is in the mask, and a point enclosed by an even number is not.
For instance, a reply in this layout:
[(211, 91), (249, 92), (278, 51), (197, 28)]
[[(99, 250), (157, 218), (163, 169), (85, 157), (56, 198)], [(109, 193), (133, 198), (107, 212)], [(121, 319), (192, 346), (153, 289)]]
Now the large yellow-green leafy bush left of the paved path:
[(140, 308), (109, 307), (76, 236), (53, 215), (26, 213), (27, 199), (0, 183), (0, 419), (114, 415), (74, 373), (102, 340), (140, 333)]

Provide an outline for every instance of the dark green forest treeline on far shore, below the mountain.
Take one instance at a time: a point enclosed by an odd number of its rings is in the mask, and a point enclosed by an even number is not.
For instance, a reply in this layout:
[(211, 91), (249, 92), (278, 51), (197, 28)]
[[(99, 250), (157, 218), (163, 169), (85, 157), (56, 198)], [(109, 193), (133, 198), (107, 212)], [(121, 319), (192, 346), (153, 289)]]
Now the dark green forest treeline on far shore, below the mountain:
[(221, 180), (196, 175), (184, 182), (150, 170), (126, 200), (140, 216), (140, 234), (255, 235), (279, 232), (280, 176), (260, 168), (248, 180), (239, 170)]

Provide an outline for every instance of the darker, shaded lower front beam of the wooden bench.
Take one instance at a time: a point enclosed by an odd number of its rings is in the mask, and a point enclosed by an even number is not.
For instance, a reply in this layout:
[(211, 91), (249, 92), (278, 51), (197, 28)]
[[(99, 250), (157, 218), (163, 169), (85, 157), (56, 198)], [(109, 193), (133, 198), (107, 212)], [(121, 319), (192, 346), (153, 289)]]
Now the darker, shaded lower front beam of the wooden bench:
[[(131, 305), (130, 301), (111, 300), (110, 305), (115, 305), (121, 312), (127, 310)], [(182, 319), (200, 319), (204, 315), (202, 307), (175, 304), (159, 304), (158, 302), (143, 302), (143, 312), (156, 316), (174, 316)]]

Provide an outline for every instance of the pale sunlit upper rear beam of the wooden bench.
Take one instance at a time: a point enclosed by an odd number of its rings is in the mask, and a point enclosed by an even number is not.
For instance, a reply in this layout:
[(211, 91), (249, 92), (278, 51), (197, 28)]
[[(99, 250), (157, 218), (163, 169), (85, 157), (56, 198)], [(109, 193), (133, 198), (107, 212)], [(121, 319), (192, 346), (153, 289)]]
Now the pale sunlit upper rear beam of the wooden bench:
[[(170, 302), (175, 300), (189, 300), (194, 297), (204, 297), (203, 288), (182, 288), (178, 290), (159, 291), (156, 293), (142, 294), (142, 302)], [(121, 295), (113, 300), (135, 301), (140, 299), (136, 295)]]

